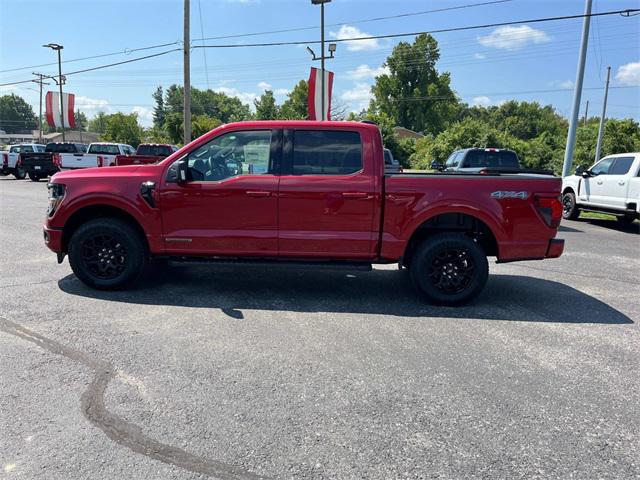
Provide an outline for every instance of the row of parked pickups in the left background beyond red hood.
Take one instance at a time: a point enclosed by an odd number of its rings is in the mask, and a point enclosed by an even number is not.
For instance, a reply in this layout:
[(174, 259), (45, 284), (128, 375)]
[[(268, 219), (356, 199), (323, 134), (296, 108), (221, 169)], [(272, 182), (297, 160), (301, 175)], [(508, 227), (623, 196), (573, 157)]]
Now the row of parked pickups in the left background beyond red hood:
[(156, 163), (177, 150), (174, 145), (74, 142), (11, 145), (0, 152), (0, 174), (37, 182), (63, 170)]

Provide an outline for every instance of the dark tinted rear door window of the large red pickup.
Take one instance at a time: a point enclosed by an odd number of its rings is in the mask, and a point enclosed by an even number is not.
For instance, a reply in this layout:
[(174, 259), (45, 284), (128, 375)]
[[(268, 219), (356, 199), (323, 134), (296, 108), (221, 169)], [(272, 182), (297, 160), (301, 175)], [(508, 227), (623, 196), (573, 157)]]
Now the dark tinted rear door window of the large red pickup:
[(293, 134), (294, 175), (350, 175), (362, 170), (358, 132), (296, 130)]

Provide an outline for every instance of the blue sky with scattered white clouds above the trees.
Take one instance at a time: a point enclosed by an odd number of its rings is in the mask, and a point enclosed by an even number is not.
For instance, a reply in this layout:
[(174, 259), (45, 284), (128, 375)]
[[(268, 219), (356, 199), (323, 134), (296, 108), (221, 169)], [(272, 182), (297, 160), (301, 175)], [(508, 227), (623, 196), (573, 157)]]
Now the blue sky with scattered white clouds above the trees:
[[(375, 17), (421, 12), (487, 0), (333, 0), (326, 7), (328, 39), (349, 36), (425, 31), (465, 25), (506, 22), (547, 16), (581, 14), (582, 0), (512, 0), (439, 13), (380, 21)], [(594, 0), (594, 12), (639, 8), (638, 0)], [(200, 24), (202, 12), (202, 29)], [(191, 0), (193, 44), (204, 37), (319, 25), (319, 7), (309, 0)], [(31, 72), (56, 73), (55, 65), (31, 67), (55, 60), (42, 44), (64, 45), (63, 61), (86, 56), (124, 52), (182, 38), (183, 3), (162, 0), (31, 1), (0, 0), (0, 83), (31, 78)], [(515, 27), (435, 34), (440, 43), (438, 68), (449, 71), (452, 86), (470, 104), (491, 105), (508, 99), (552, 104), (569, 115), (582, 20), (565, 20)], [(204, 35), (203, 35), (204, 34)], [(248, 38), (208, 40), (207, 43), (246, 43), (312, 40), (319, 28)], [(339, 43), (335, 60), (327, 68), (335, 72), (334, 96), (351, 110), (366, 106), (369, 87), (393, 46), (401, 40)], [(176, 48), (180, 45), (120, 53), (63, 64), (63, 72)], [(314, 47), (316, 51), (317, 47)], [(206, 65), (205, 57), (206, 52)], [(311, 66), (304, 46), (268, 48), (195, 49), (192, 52), (192, 85), (224, 91), (251, 102), (265, 88), (282, 101)], [(640, 119), (640, 16), (600, 17), (592, 20), (583, 92), (590, 101), (590, 115), (602, 108), (606, 68), (612, 67), (613, 87), (608, 116)], [(78, 107), (89, 117), (97, 111), (139, 113), (143, 124), (151, 122), (152, 92), (158, 85), (182, 83), (182, 54), (153, 59), (68, 77), (65, 90), (76, 94)], [(550, 91), (552, 90), (552, 91)], [(23, 96), (37, 111), (35, 84), (0, 87), (0, 94)], [(527, 93), (528, 92), (528, 93)]]

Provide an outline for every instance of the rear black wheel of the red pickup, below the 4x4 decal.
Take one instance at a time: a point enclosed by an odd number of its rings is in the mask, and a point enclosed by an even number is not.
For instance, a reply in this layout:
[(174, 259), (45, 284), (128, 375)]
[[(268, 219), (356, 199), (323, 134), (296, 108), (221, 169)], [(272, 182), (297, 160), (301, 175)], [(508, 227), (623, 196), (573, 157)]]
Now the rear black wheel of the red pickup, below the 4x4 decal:
[(418, 291), (430, 303), (460, 305), (477, 297), (489, 276), (482, 248), (458, 233), (428, 237), (417, 249), (409, 267)]

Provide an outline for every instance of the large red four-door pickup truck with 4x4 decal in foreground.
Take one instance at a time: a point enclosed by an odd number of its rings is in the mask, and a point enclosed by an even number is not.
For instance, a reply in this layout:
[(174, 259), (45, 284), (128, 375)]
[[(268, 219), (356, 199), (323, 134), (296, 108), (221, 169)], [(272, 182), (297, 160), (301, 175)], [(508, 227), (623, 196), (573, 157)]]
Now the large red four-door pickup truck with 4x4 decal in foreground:
[(130, 285), (152, 258), (398, 263), (439, 304), (477, 296), (488, 256), (562, 254), (559, 178), (384, 169), (375, 125), (228, 124), (155, 165), (54, 175), (45, 243), (98, 289)]

